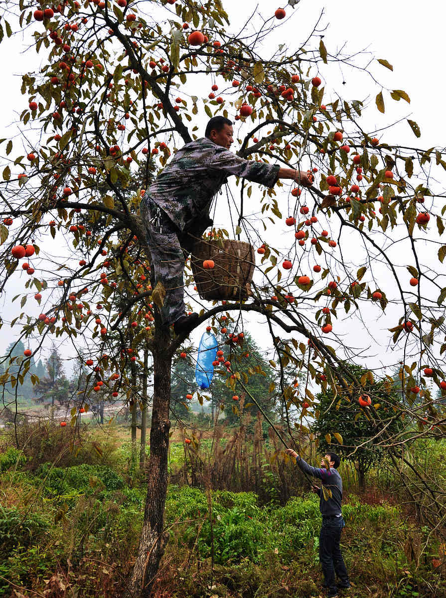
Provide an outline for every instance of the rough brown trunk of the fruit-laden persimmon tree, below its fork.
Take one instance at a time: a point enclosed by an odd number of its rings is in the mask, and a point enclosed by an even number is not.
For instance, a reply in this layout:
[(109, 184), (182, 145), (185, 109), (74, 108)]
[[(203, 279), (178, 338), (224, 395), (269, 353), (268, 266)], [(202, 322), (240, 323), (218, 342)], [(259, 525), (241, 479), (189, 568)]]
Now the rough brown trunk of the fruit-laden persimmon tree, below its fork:
[(169, 449), (170, 368), (169, 329), (157, 325), (152, 349), (154, 396), (147, 466), (147, 496), (139, 539), (138, 556), (129, 581), (131, 595), (148, 598), (152, 581), (164, 553), (168, 533), (163, 533), (167, 492), (167, 451)]

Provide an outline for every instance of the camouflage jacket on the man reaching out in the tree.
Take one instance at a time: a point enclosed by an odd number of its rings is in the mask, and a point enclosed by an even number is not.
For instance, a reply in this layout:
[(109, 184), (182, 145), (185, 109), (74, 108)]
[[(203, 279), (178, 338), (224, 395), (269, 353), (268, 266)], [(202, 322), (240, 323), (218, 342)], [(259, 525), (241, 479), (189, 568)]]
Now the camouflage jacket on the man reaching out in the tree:
[(193, 230), (197, 224), (204, 230), (212, 222), (209, 210), (213, 196), (227, 182), (227, 176), (273, 187), (279, 168), (279, 164), (244, 160), (203, 137), (176, 152), (150, 185), (145, 201), (154, 202), (181, 231)]

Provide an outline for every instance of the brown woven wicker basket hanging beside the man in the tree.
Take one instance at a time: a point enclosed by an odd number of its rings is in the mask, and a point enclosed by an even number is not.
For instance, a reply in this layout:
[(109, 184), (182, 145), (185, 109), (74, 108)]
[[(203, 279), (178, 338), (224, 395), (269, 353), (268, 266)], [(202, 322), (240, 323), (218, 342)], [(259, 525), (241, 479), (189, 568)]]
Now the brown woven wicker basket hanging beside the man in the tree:
[[(215, 267), (205, 270), (204, 260), (213, 260)], [(255, 254), (249, 243), (202, 239), (194, 245), (191, 266), (201, 299), (245, 301), (252, 295)]]

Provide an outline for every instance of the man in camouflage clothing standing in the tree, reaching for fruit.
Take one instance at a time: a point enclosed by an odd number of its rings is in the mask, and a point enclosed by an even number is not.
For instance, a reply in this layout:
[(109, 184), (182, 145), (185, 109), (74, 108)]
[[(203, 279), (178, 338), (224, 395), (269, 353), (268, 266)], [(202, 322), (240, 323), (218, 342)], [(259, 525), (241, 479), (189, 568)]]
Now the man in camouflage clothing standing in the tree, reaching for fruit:
[(212, 225), (210, 205), (227, 176), (267, 187), (273, 187), (279, 178), (310, 184), (302, 170), (240, 158), (229, 151), (232, 143), (231, 121), (222, 116), (211, 118), (205, 136), (176, 152), (140, 204), (151, 253), (152, 285), (161, 282), (166, 291), (161, 319), (163, 324), (173, 324), (176, 334), (190, 331), (198, 319), (196, 313), (184, 315), (184, 261), (195, 240)]

